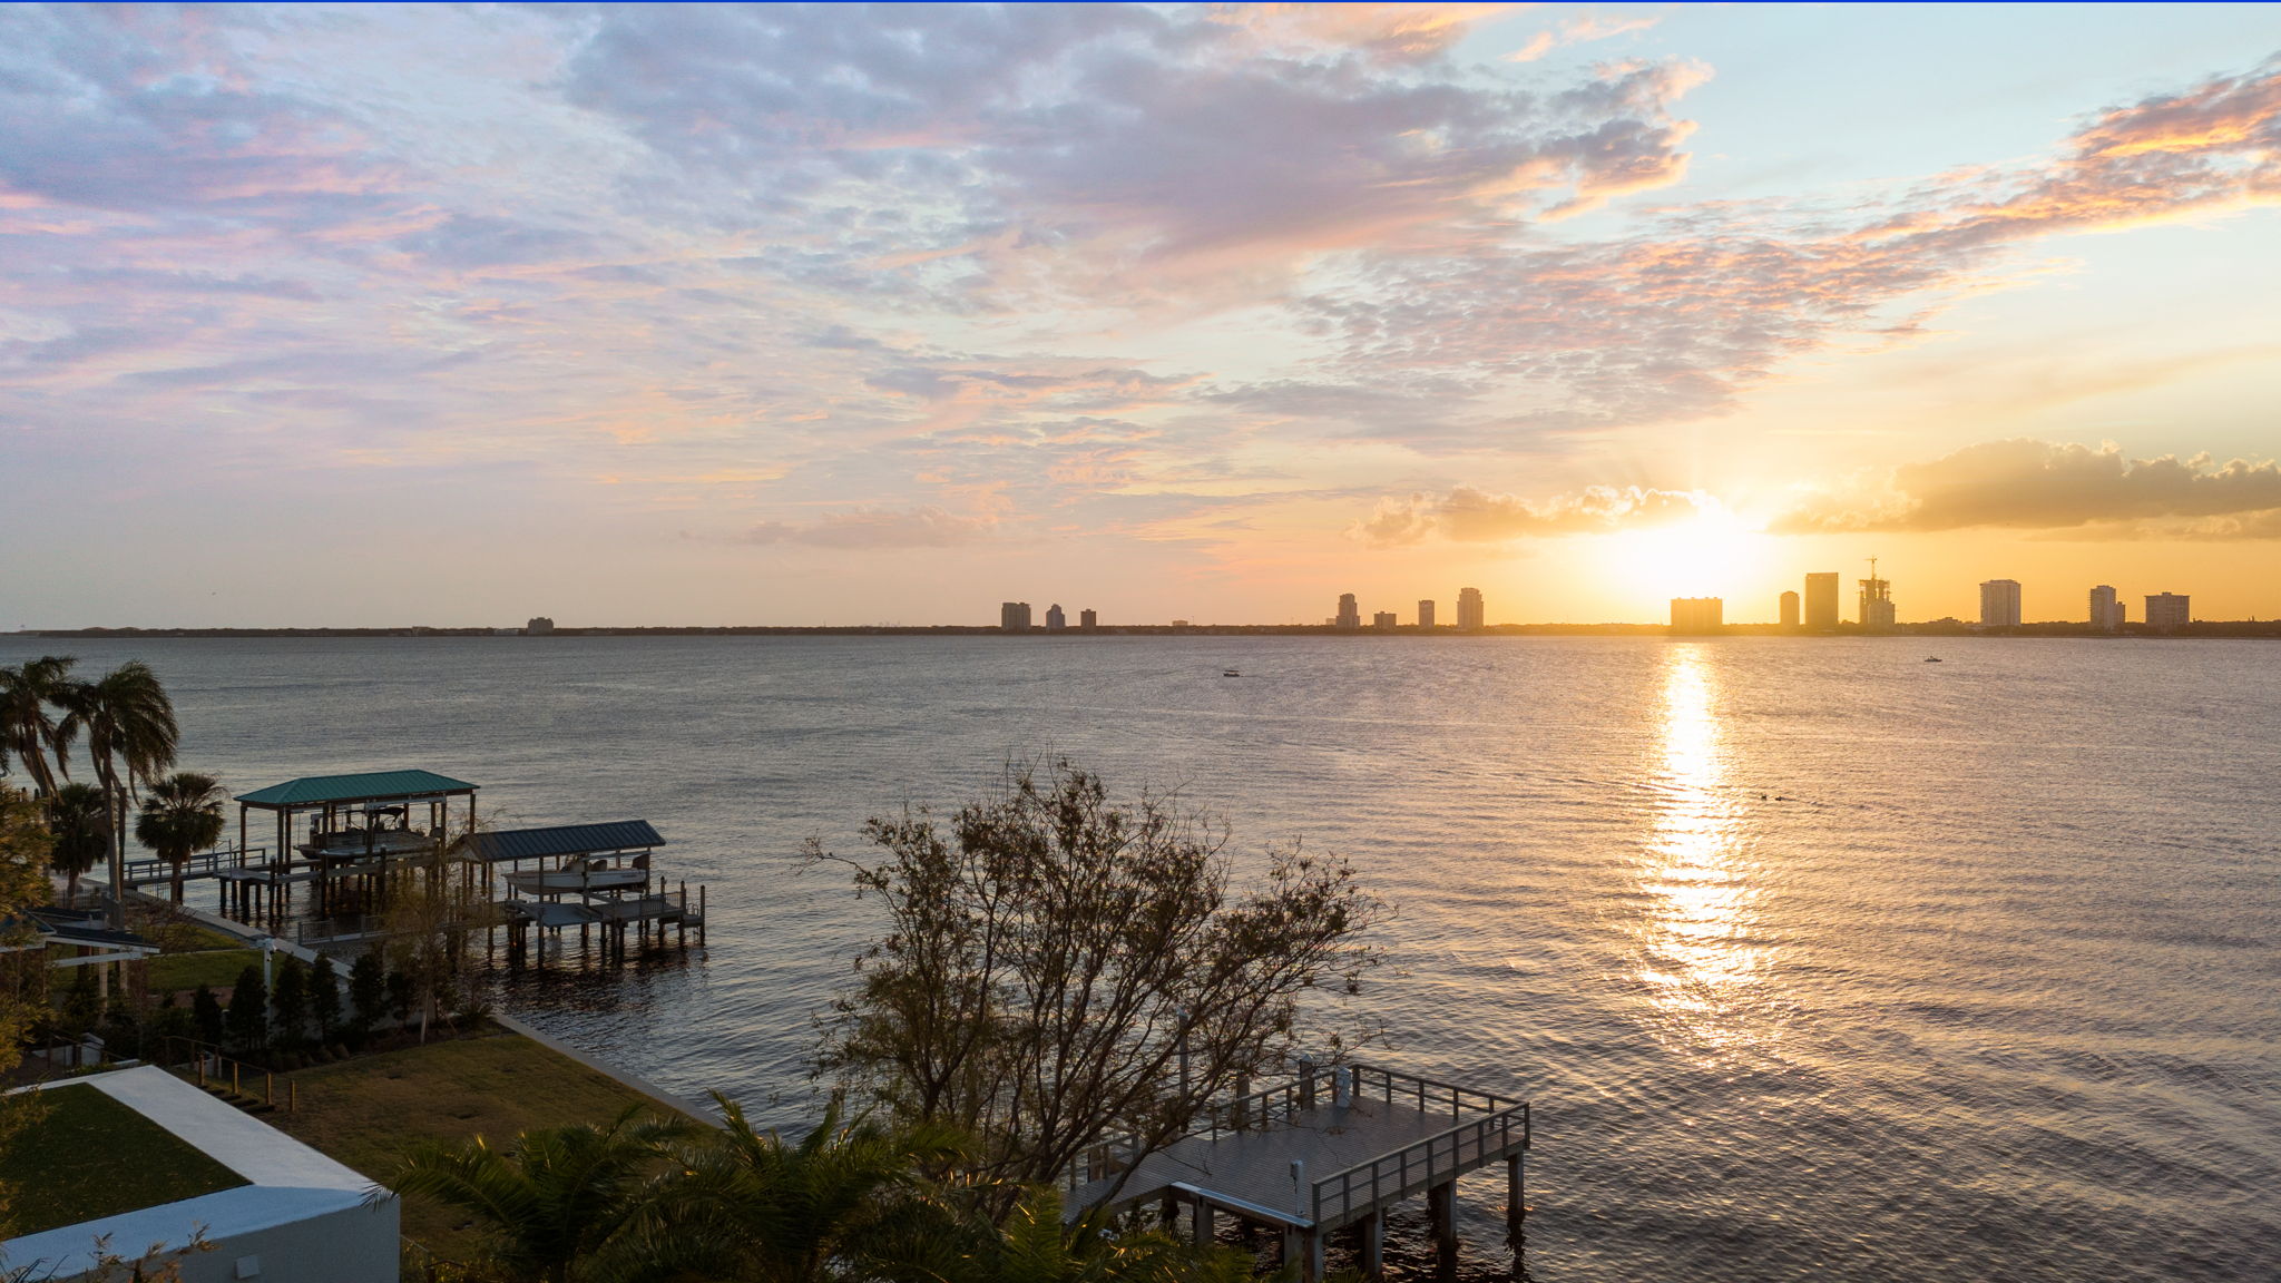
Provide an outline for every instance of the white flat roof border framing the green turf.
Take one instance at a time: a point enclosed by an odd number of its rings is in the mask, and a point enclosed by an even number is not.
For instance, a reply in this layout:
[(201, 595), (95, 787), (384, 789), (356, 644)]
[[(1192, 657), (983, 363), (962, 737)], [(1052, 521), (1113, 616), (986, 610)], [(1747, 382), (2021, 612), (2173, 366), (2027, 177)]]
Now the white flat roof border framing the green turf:
[[(198, 1228), (219, 1242), (360, 1208), (374, 1189), (372, 1180), (164, 1068), (137, 1066), (66, 1082), (84, 1082), (128, 1105), (244, 1176), (249, 1185), (23, 1235), (5, 1244), (9, 1262), (39, 1260), (57, 1278), (71, 1278), (96, 1265), (98, 1242), (109, 1242), (116, 1251), (139, 1251), (146, 1244), (182, 1246)], [(392, 1208), (388, 1212), (392, 1215)]]

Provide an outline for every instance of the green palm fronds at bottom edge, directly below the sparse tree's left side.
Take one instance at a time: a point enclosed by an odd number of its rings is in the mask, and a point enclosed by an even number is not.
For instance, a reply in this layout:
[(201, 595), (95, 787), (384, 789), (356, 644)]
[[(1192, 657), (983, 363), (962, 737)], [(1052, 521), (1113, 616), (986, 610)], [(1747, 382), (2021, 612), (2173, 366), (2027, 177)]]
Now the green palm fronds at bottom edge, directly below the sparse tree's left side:
[(883, 1128), (844, 1119), (835, 1096), (796, 1144), (755, 1132), (728, 1096), (723, 1125), (675, 1151), (614, 1258), (668, 1276), (737, 1283), (922, 1278), (988, 1242), (922, 1171), (958, 1157), (947, 1128)]

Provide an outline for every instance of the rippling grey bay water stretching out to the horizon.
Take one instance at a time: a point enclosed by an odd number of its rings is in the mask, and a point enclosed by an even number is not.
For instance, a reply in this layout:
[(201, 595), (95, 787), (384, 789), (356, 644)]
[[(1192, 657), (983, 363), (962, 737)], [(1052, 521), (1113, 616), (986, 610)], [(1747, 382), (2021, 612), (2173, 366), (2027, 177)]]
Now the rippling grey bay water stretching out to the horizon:
[[(1396, 915), (1341, 1018), (1533, 1100), (1533, 1278), (2281, 1278), (2274, 644), (0, 637), (39, 653), (151, 662), (233, 792), (650, 820), (709, 947), (500, 1002), (769, 1123), (878, 934), (803, 842), (1065, 756), (1355, 861)], [(1501, 1265), (1501, 1173), (1460, 1199)]]

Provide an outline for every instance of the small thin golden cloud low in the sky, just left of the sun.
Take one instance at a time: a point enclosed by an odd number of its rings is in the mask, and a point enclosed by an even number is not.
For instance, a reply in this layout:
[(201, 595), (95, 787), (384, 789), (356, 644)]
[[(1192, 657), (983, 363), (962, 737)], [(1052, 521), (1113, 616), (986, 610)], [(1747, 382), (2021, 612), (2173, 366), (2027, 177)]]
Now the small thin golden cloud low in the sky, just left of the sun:
[(1378, 509), (1348, 534), (1375, 548), (1401, 548), (1435, 536), (1458, 543), (1503, 543), (1670, 525), (1713, 507), (1715, 500), (1693, 491), (1640, 486), (1588, 486), (1544, 502), (1455, 486), (1446, 495), (1414, 493), (1380, 500)]

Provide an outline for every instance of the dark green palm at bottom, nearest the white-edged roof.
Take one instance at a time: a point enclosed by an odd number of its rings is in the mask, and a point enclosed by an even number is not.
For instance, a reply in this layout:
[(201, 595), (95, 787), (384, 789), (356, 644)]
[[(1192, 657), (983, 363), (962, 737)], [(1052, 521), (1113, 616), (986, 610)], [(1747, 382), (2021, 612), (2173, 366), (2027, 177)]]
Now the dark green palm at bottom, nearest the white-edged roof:
[(641, 1208), (643, 1180), (664, 1164), (680, 1123), (636, 1121), (541, 1128), (504, 1148), (424, 1141), (406, 1151), (388, 1187), (433, 1199), (486, 1224), (493, 1262), (518, 1283), (600, 1278), (602, 1249)]

